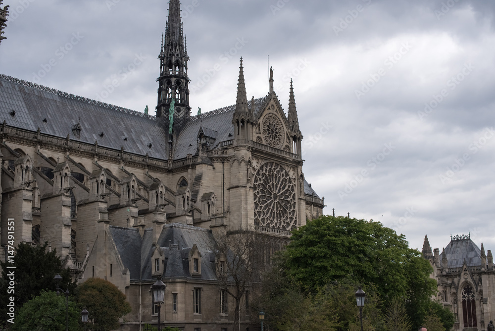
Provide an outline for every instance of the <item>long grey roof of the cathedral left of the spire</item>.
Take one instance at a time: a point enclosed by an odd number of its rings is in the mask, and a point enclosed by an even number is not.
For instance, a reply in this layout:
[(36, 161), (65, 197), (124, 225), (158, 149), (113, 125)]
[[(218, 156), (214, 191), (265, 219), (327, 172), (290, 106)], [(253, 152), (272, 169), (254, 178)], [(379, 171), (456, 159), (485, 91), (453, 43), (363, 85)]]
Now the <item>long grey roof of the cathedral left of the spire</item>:
[[(10, 114), (12, 110), (15, 115)], [(129, 153), (167, 159), (167, 134), (155, 117), (5, 75), (0, 75), (0, 114), (9, 126), (34, 132), (39, 127), (44, 134), (64, 139), (70, 134), (72, 140), (98, 141), (102, 147), (124, 147)], [(72, 126), (79, 118), (82, 130), (76, 138)]]

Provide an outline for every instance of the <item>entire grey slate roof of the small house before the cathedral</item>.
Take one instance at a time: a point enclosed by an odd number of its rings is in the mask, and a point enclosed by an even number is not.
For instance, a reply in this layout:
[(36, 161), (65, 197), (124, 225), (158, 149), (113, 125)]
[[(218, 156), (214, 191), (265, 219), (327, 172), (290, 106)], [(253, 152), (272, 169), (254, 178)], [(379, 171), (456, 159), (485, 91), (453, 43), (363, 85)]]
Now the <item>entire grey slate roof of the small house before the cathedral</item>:
[[(155, 249), (152, 245), (153, 230), (146, 229), (143, 238), (137, 229), (109, 226), (109, 232), (124, 267), (129, 269), (131, 280), (152, 279), (151, 256)], [(209, 230), (180, 223), (164, 225), (158, 238), (158, 246), (165, 258), (164, 277), (192, 278), (189, 273), (188, 254), (194, 244), (201, 254), (199, 278), (216, 280), (214, 255), (211, 251), (211, 248), (215, 247), (213, 234)]]

